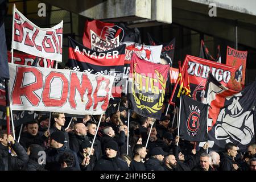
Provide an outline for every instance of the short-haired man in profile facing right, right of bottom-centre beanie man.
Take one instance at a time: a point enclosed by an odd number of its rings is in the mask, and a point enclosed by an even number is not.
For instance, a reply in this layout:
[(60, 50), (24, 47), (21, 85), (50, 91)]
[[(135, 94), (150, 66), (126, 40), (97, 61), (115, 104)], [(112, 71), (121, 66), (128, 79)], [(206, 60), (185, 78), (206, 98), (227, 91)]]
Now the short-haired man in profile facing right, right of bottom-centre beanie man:
[(142, 144), (137, 144), (133, 150), (134, 158), (131, 160), (130, 169), (131, 171), (146, 171), (142, 160), (146, 158), (146, 148)]

